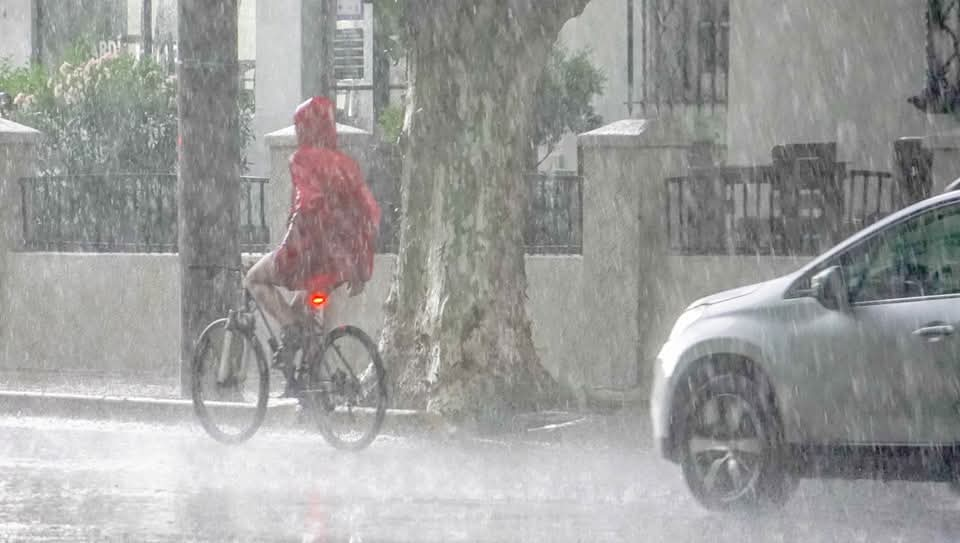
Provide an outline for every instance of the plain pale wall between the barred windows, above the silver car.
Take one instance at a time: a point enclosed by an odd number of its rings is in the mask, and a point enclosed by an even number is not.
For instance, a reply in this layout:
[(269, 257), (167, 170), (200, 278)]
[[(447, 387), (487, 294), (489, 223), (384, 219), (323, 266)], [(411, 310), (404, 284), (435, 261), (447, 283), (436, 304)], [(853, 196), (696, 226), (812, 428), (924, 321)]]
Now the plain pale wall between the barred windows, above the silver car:
[(907, 103), (925, 84), (925, 8), (731, 0), (730, 162), (769, 163), (778, 143), (837, 141), (840, 160), (890, 170), (895, 139), (938, 130)]

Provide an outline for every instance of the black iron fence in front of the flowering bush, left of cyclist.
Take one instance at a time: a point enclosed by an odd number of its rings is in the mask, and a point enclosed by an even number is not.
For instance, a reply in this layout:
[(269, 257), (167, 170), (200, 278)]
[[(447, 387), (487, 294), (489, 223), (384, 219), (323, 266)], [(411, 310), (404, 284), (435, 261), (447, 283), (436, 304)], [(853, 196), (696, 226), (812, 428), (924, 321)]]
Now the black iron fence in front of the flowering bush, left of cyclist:
[[(240, 244), (260, 251), (269, 242), (266, 178), (244, 177)], [(23, 248), (29, 251), (175, 252), (177, 176), (111, 174), (20, 180)]]

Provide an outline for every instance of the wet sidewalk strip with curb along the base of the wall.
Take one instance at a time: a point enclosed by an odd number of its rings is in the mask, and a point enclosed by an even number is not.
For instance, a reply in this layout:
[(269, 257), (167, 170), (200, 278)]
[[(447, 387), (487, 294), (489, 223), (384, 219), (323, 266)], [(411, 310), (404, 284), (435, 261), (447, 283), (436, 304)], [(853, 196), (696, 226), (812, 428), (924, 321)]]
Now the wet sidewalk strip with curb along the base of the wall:
[[(156, 424), (196, 422), (193, 403), (179, 394), (179, 380), (162, 375), (104, 375), (57, 371), (0, 371), (0, 415), (114, 420)], [(513, 430), (498, 436), (547, 443), (616, 443), (649, 446), (646, 409), (636, 405), (550, 411), (519, 416)], [(264, 426), (309, 428), (296, 402), (271, 401)], [(430, 413), (388, 409), (384, 433), (447, 437), (448, 428)]]

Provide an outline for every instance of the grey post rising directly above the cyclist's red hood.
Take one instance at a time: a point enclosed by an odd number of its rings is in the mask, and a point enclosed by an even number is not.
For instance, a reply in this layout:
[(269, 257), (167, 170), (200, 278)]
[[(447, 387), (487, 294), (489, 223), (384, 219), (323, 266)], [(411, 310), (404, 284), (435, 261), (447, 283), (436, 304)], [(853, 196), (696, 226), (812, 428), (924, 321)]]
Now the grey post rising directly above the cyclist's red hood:
[(303, 52), (301, 94), (336, 101), (333, 41), (337, 32), (337, 0), (302, 0), (300, 40)]

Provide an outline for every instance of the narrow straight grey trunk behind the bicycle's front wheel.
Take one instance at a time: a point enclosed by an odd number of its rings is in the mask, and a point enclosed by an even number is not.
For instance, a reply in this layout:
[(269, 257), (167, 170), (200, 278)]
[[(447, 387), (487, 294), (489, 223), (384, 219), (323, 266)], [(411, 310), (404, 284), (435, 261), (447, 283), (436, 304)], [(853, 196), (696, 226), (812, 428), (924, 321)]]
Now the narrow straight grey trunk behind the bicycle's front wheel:
[(180, 0), (177, 107), (181, 393), (193, 343), (239, 293), (237, 0)]

